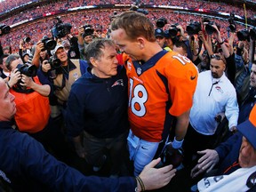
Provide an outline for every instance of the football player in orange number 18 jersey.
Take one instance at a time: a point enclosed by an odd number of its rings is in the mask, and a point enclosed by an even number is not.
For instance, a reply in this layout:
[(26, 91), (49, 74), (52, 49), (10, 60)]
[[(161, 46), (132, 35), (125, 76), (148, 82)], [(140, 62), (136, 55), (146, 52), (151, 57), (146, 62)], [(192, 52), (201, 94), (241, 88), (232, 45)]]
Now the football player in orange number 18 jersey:
[(124, 52), (131, 124), (128, 146), (134, 175), (139, 175), (163, 149), (159, 143), (169, 135), (172, 116), (177, 117), (172, 148), (181, 148), (196, 90), (197, 69), (187, 57), (164, 51), (156, 43), (153, 23), (139, 12), (122, 13), (112, 21), (110, 29), (111, 38)]

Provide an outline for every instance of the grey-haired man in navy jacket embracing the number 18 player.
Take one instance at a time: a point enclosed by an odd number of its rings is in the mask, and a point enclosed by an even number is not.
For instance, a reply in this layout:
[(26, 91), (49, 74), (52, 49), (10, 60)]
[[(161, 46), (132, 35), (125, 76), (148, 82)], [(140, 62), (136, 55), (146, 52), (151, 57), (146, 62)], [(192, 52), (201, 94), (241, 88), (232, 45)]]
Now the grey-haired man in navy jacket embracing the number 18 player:
[(129, 130), (127, 77), (116, 54), (116, 44), (109, 39), (96, 39), (86, 46), (89, 67), (72, 85), (65, 117), (78, 156), (84, 157), (94, 172), (104, 164), (108, 149), (111, 176), (128, 172), (122, 157)]

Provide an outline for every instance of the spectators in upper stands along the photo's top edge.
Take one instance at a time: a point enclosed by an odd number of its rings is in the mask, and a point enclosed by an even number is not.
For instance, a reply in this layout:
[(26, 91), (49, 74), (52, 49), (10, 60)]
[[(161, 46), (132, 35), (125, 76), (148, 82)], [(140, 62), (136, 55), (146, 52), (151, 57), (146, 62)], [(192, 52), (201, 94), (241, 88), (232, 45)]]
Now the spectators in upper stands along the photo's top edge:
[[(31, 2), (31, 1), (28, 1)], [(15, 7), (19, 7), (19, 5), (22, 4), (26, 4), (28, 2), (19, 2), (19, 1), (4, 1), (1, 2), (0, 4), (2, 11), (1, 12), (8, 12), (9, 9), (11, 8), (15, 8)], [(32, 2), (37, 2), (37, 1), (32, 1)], [(63, 9), (68, 9), (68, 8), (74, 8), (74, 7), (78, 7), (78, 6), (84, 6), (84, 5), (98, 5), (98, 4), (134, 4), (135, 1), (130, 1), (130, 0), (126, 0), (126, 1), (122, 1), (122, 2), (118, 2), (118, 1), (85, 1), (85, 0), (79, 0), (79, 1), (60, 1), (60, 2), (56, 2), (56, 3), (50, 3), (50, 4), (45, 4), (47, 1), (41, 1), (42, 2), (42, 6), (40, 6), (40, 11), (42, 12), (52, 12), (52, 11), (58, 11), (58, 10), (63, 10)], [(44, 5), (45, 4), (45, 5)], [(52, 4), (56, 4), (56, 6), (52, 9)], [(180, 7), (184, 7), (184, 8), (188, 8), (188, 9), (204, 9), (204, 10), (208, 10), (208, 11), (216, 11), (216, 12), (236, 12), (236, 15), (239, 15), (241, 17), (244, 17), (244, 7), (237, 7), (237, 6), (230, 6), (228, 4), (221, 3), (221, 2), (205, 2), (205, 1), (177, 1), (177, 0), (172, 0), (172, 1), (140, 1), (140, 4), (158, 4), (158, 5), (172, 5), (172, 6), (180, 6)], [(44, 9), (41, 9), (41, 8)], [(247, 17), (248, 18), (252, 18), (254, 16), (253, 10), (250, 7), (246, 7), (247, 9)], [(31, 16), (34, 16), (35, 14), (40, 14), (42, 12), (34, 12), (35, 9), (29, 9), (29, 10), (25, 10), (22, 14), (25, 13), (25, 15), (29, 18), (31, 18)], [(34, 12), (34, 13), (33, 13)], [(22, 16), (22, 14), (20, 14), (20, 16)], [(22, 18), (20, 18), (21, 20)], [(11, 19), (11, 23), (13, 22), (14, 19)]]

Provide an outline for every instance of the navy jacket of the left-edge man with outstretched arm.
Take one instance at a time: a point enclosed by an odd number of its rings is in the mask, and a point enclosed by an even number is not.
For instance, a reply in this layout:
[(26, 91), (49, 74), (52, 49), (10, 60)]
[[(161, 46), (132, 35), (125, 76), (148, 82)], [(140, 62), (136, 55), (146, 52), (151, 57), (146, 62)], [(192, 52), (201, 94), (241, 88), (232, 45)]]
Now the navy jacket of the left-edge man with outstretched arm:
[(13, 130), (10, 122), (0, 122), (0, 151), (0, 170), (14, 191), (128, 192), (136, 188), (132, 177), (84, 176), (56, 160), (27, 133)]

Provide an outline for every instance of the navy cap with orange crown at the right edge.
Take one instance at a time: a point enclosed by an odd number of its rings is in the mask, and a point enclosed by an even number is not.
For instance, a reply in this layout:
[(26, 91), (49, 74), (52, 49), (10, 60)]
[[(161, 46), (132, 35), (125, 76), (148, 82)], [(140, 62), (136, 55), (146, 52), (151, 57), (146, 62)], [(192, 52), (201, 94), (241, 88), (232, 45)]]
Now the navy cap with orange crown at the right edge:
[(252, 144), (252, 147), (256, 149), (256, 104), (252, 108), (249, 119), (242, 124), (237, 125), (238, 132), (241, 132), (246, 140)]

